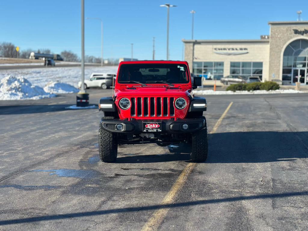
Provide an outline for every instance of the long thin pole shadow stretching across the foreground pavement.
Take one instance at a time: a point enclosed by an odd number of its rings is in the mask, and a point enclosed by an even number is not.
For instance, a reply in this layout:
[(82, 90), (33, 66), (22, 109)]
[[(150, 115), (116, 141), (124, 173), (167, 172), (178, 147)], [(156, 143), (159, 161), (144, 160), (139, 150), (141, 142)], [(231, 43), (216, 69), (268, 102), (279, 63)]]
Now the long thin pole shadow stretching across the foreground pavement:
[(268, 199), (268, 198), (283, 198), (283, 197), (290, 197), (290, 196), (307, 196), (307, 195), (308, 195), (308, 191), (287, 192), (287, 193), (274, 193), (274, 194), (260, 194), (260, 195), (254, 195), (254, 196), (227, 197), (227, 198), (211, 199), (211, 200), (196, 200), (196, 201), (175, 203), (175, 204), (158, 204), (158, 205), (152, 205), (152, 206), (115, 208), (115, 209), (96, 210), (96, 211), (89, 211), (89, 212), (73, 212), (73, 213), (63, 213), (63, 214), (58, 214), (58, 215), (45, 215), (45, 216), (39, 216), (39, 217), (12, 219), (12, 220), (6, 220), (6, 221), (3, 220), (3, 221), (0, 221), (0, 225), (30, 223), (30, 222), (37, 222), (37, 221), (61, 220), (61, 219), (74, 218), (74, 217), (91, 217), (91, 216), (111, 214), (111, 213), (139, 212), (140, 210), (157, 210), (160, 208), (187, 207), (187, 206), (195, 206), (195, 205), (202, 205), (202, 204), (215, 204), (215, 203), (233, 202), (233, 201), (241, 201), (241, 200), (256, 200), (256, 199), (260, 200), (260, 199)]

